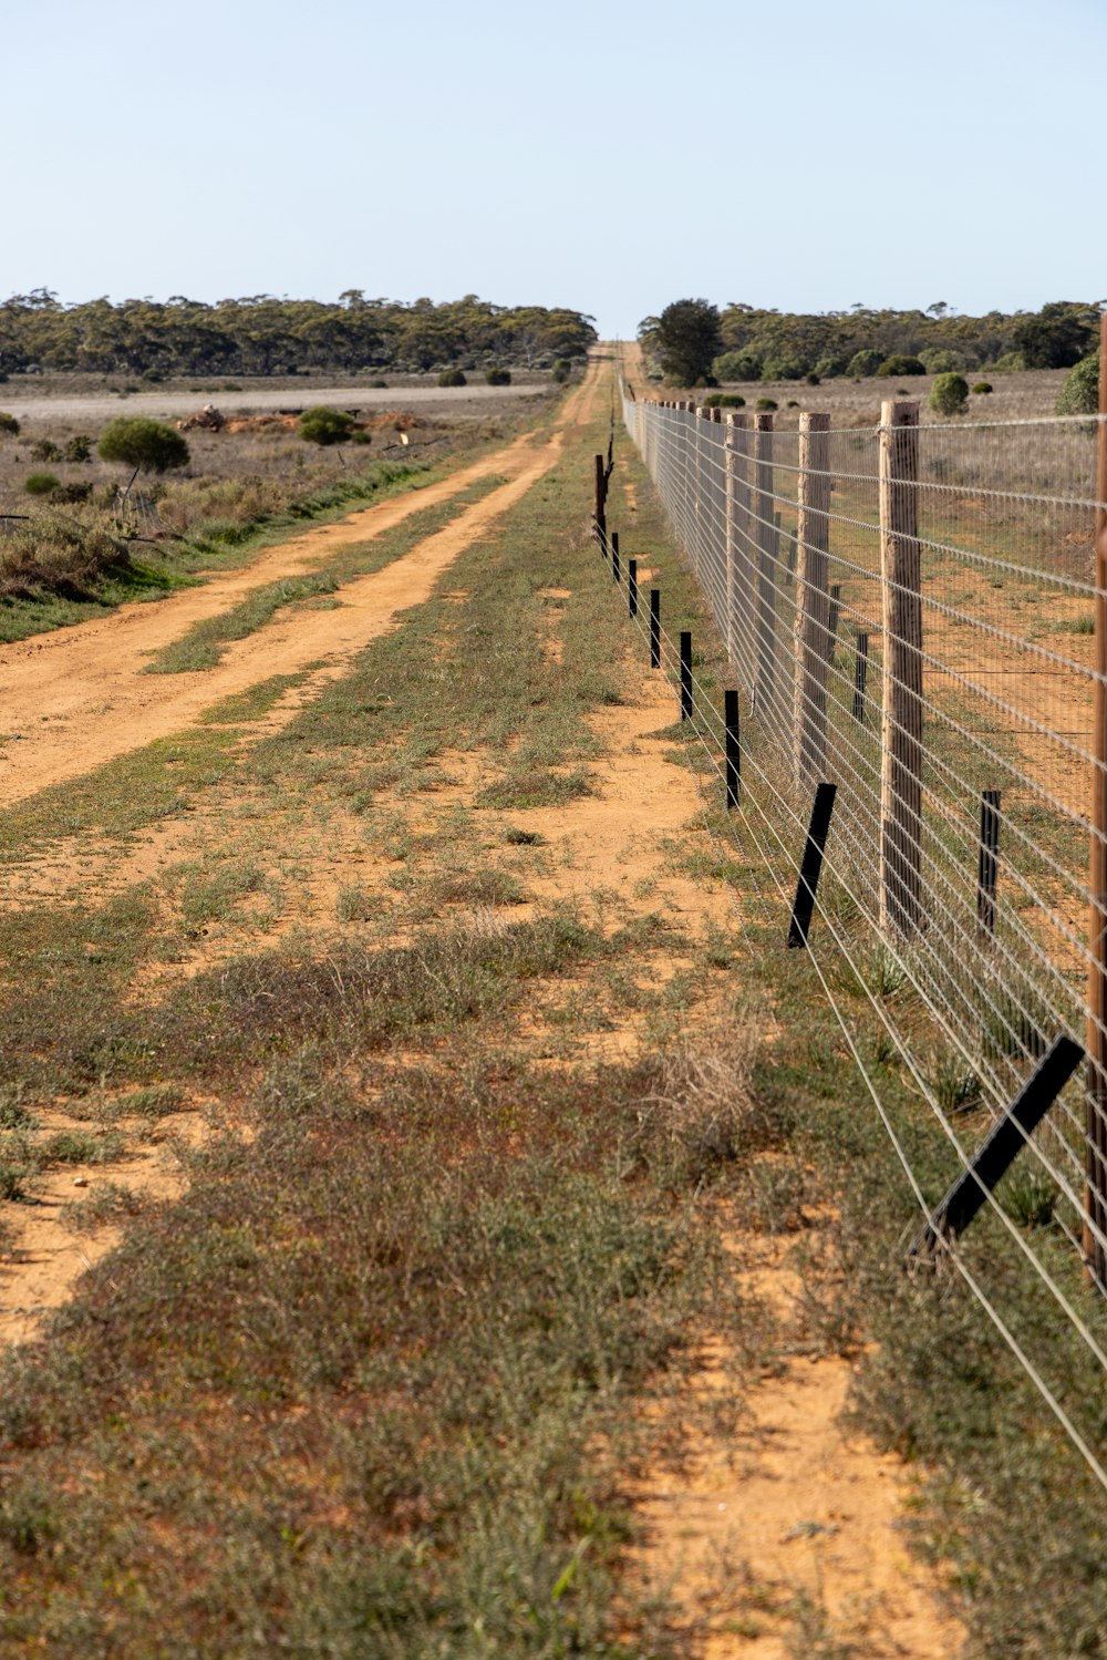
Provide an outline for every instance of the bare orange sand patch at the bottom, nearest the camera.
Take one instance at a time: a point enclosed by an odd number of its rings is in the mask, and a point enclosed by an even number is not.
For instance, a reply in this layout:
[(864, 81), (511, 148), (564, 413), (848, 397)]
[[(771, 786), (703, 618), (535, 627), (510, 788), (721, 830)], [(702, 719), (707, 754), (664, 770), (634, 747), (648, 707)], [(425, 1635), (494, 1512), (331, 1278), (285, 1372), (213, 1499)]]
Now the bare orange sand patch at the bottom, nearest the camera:
[[(732, 1233), (744, 1290), (788, 1318), (800, 1280), (788, 1240)], [(735, 1360), (705, 1345), (695, 1393), (710, 1404)], [(949, 1660), (964, 1632), (908, 1550), (911, 1487), (898, 1459), (843, 1426), (850, 1363), (800, 1355), (745, 1394), (734, 1434), (687, 1428), (687, 1461), (639, 1494), (637, 1570), (705, 1618), (705, 1660)]]

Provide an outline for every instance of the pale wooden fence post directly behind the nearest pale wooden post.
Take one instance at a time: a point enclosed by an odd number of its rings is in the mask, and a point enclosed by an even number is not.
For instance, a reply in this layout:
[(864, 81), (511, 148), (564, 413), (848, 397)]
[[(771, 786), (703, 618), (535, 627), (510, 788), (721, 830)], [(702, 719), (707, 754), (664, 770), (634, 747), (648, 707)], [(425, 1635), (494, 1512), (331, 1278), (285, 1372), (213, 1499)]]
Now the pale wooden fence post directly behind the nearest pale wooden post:
[(795, 563), (795, 775), (818, 784), (827, 760), (830, 664), (830, 415), (800, 415)]

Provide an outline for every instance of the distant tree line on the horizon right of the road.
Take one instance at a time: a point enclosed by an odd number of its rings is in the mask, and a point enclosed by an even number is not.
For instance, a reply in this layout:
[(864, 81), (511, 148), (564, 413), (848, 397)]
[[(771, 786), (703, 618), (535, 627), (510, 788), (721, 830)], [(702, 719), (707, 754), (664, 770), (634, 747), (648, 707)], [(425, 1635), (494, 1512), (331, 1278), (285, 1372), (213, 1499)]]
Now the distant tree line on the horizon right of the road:
[(1069, 369), (1099, 345), (1099, 304), (1051, 300), (1037, 312), (968, 317), (944, 300), (926, 310), (780, 312), (685, 299), (646, 317), (639, 339), (657, 372), (682, 385)]

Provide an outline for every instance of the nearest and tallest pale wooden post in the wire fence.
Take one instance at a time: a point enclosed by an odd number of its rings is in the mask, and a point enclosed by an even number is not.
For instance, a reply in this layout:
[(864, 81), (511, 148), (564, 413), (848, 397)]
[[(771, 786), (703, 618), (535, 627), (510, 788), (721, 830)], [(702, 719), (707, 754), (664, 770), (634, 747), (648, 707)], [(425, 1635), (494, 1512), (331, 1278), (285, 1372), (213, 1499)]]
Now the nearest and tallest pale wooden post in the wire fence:
[(923, 591), (918, 403), (880, 407), (880, 925), (911, 935), (923, 890)]

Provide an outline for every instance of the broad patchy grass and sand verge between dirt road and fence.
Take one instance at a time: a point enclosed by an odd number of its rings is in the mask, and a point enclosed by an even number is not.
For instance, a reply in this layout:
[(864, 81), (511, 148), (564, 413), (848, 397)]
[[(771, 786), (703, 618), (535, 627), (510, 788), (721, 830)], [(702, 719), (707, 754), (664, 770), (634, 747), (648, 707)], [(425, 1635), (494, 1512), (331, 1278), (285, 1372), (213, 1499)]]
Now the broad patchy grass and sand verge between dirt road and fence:
[[(589, 873), (573, 815), (616, 762), (689, 760), (667, 714), (621, 737), (657, 686), (588, 536), (606, 435), (606, 412), (569, 428), (299, 710), (274, 664), (0, 825), (12, 1238), (66, 1159), (206, 1125), (181, 1197), (106, 1177), (78, 1202), (81, 1238), (118, 1248), (3, 1363), (3, 1652), (629, 1660), (712, 1632), (885, 1653), (888, 1610), (846, 1617), (818, 1575), (765, 1585), (737, 1550), (697, 1600), (641, 1567), (642, 1486), (679, 1486), (788, 1368), (848, 1356), (858, 1423), (919, 1472), (905, 1527), (971, 1652), (1104, 1653), (1097, 1489), (959, 1285), (905, 1275), (913, 1200), (810, 963), (760, 911), (671, 898), (750, 880), (690, 780), (664, 840), (657, 777), (624, 807), (644, 875)], [(609, 521), (717, 692), (626, 443)], [(886, 1069), (936, 1199), (944, 1147)], [(744, 1277), (765, 1242), (800, 1265), (795, 1306)], [(992, 1245), (983, 1218), (984, 1285), (1016, 1273)]]

